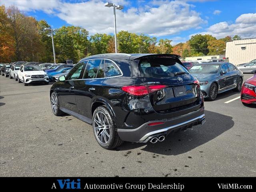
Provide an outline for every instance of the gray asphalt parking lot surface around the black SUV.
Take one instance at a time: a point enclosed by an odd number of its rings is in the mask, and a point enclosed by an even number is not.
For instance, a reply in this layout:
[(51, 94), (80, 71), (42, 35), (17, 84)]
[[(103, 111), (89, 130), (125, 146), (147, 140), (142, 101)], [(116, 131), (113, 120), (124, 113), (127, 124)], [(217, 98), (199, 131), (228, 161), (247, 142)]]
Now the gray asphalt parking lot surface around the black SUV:
[(52, 114), (50, 86), (0, 76), (0, 176), (256, 176), (256, 106), (230, 102), (238, 92), (206, 101), (204, 125), (105, 150), (92, 126)]

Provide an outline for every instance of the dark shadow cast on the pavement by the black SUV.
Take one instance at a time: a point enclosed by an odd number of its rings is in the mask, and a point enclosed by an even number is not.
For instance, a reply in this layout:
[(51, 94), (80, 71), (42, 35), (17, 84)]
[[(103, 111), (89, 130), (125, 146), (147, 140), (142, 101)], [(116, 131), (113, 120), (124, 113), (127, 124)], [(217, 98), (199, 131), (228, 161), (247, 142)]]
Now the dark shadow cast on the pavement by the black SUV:
[(192, 129), (168, 135), (163, 142), (146, 144), (124, 142), (116, 150), (130, 150), (144, 146), (141, 150), (163, 155), (179, 155), (209, 142), (234, 126), (232, 117), (216, 112), (205, 111), (206, 123)]

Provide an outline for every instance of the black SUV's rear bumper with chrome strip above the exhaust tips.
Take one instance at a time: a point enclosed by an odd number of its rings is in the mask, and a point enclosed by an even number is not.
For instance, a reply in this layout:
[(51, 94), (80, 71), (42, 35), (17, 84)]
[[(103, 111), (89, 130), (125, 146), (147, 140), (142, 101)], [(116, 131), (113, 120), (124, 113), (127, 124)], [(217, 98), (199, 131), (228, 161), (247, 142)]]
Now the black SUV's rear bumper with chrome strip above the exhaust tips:
[[(178, 130), (186, 130), (194, 125), (202, 124), (205, 119), (204, 107), (197, 111), (190, 112), (188, 114), (178, 116), (170, 119), (154, 120), (142, 124), (135, 129), (118, 129), (119, 137), (124, 141), (130, 142), (148, 142), (155, 136), (165, 135), (167, 136), (171, 132)], [(148, 126), (152, 122), (164, 122), (164, 124), (156, 126)]]

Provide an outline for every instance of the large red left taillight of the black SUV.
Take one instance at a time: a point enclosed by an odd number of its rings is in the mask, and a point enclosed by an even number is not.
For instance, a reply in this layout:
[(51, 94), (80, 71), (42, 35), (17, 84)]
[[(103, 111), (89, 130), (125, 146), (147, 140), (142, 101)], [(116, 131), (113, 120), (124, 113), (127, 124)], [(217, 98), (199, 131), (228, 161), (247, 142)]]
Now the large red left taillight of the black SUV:
[(160, 89), (166, 88), (166, 85), (130, 85), (130, 86), (123, 86), (122, 90), (126, 93), (135, 96), (143, 96), (146, 94), (150, 94), (152, 92), (158, 91)]

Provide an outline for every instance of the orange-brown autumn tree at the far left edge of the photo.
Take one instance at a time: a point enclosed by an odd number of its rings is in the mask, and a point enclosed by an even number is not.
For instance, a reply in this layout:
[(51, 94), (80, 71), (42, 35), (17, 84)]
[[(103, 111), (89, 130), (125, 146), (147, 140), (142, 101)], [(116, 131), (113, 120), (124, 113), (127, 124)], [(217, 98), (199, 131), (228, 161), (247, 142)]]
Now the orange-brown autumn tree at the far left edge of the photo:
[(11, 62), (15, 56), (14, 38), (10, 35), (10, 25), (5, 6), (0, 6), (0, 62)]

